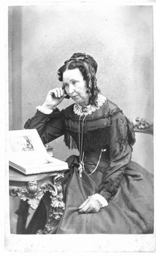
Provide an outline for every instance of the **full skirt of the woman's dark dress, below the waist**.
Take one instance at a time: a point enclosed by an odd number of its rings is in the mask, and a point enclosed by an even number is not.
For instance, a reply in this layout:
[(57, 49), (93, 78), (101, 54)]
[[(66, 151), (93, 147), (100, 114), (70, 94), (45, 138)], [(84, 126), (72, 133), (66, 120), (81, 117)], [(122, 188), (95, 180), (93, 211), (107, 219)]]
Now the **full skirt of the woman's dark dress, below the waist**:
[[(82, 178), (79, 177), (77, 156), (69, 157), (70, 171), (63, 181), (66, 204), (63, 216), (50, 234), (152, 234), (153, 233), (153, 175), (139, 164), (130, 161), (127, 165), (121, 186), (106, 207), (99, 212), (79, 213), (79, 206), (97, 193), (104, 177), (107, 163), (101, 161), (99, 168), (90, 175), (96, 163), (85, 165)], [(46, 218), (38, 207), (38, 216)], [(36, 225), (34, 215), (31, 225)], [(38, 225), (38, 224), (37, 224)], [(38, 225), (38, 229), (39, 229)], [(33, 230), (36, 230), (33, 229)]]

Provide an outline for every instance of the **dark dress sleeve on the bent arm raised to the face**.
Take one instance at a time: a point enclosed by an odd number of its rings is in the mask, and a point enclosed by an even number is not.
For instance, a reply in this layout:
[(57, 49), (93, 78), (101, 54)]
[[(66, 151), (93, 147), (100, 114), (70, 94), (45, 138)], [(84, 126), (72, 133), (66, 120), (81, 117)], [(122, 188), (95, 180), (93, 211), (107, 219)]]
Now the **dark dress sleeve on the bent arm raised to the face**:
[(27, 120), (24, 128), (36, 129), (43, 144), (49, 143), (64, 134), (63, 117), (58, 108), (49, 115), (37, 110), (35, 116)]

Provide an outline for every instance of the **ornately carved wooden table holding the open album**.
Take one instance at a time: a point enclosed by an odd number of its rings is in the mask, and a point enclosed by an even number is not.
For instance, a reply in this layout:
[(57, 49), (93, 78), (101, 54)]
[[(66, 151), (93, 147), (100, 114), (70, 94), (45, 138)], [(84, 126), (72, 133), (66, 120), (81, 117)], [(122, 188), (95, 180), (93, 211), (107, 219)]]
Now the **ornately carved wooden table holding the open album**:
[(61, 186), (63, 177), (62, 171), (24, 175), (10, 167), (10, 195), (20, 198), (19, 209), (16, 211), (17, 234), (27, 234), (26, 221), (29, 207), (37, 209), (41, 200), (45, 204), (47, 223), (43, 230), (38, 230), (36, 234), (49, 234), (56, 226), (65, 209)]

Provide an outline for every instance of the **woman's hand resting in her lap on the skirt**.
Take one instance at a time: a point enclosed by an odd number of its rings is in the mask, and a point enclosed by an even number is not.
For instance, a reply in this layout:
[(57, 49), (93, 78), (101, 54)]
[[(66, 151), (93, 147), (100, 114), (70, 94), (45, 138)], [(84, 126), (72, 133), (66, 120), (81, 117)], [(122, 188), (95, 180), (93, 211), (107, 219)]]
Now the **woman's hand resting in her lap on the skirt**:
[(78, 208), (79, 213), (88, 213), (88, 212), (99, 212), (101, 204), (97, 199), (89, 197), (83, 204)]

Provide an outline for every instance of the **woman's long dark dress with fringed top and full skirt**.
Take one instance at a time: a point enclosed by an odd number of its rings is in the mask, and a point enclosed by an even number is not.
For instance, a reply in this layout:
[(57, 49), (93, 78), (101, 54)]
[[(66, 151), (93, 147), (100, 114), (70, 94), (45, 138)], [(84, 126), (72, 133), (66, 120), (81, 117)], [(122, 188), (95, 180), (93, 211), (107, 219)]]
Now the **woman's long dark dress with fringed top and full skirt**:
[[(24, 127), (36, 128), (43, 143), (64, 135), (68, 148), (79, 149), (81, 144), (84, 152), (82, 177), (79, 156), (67, 159), (66, 209), (52, 234), (153, 233), (153, 175), (130, 161), (135, 134), (118, 106), (106, 99), (85, 119), (74, 112), (74, 104), (50, 115), (37, 111)], [(95, 193), (108, 205), (97, 213), (79, 214), (78, 207)]]

